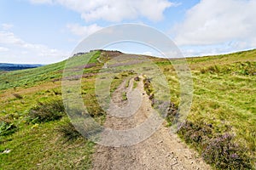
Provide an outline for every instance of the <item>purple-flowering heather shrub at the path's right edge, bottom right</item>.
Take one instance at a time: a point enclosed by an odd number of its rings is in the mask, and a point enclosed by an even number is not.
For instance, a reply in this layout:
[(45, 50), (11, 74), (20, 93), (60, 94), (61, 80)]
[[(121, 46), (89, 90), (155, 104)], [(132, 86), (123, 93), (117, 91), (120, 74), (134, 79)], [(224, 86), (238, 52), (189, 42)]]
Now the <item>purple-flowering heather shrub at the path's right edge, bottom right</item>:
[(217, 169), (251, 169), (250, 158), (245, 149), (233, 142), (229, 133), (214, 134), (211, 124), (185, 122), (177, 133), (186, 143), (192, 144), (207, 163)]

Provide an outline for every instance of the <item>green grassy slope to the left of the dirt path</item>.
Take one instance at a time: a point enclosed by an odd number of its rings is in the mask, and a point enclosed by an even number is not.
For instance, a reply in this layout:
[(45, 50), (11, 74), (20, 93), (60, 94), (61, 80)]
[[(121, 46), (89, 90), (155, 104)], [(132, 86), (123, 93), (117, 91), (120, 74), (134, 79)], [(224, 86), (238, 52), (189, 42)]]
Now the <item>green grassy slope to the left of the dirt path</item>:
[[(90, 168), (95, 144), (82, 138), (63, 113), (63, 66), (64, 62), (61, 62), (41, 69), (1, 74), (0, 79), (8, 77), (9, 83), (0, 82), (0, 169)], [(86, 87), (83, 97), (90, 96), (86, 105), (101, 122), (104, 116), (100, 114), (96, 100), (91, 100), (95, 96), (93, 90), (90, 90), (94, 88), (94, 80), (94, 76), (83, 78), (82, 87)], [(2, 124), (2, 119), (8, 122)], [(2, 154), (5, 150), (10, 152)]]

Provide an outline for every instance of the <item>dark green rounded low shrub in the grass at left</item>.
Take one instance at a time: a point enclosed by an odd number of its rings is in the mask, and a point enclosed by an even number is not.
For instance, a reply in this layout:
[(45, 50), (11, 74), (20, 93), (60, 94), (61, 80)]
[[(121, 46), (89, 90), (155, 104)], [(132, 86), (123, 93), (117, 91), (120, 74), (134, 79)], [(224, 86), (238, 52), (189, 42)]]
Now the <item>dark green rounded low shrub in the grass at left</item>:
[(28, 113), (28, 120), (32, 123), (49, 122), (59, 120), (64, 115), (62, 100), (51, 100), (33, 107)]

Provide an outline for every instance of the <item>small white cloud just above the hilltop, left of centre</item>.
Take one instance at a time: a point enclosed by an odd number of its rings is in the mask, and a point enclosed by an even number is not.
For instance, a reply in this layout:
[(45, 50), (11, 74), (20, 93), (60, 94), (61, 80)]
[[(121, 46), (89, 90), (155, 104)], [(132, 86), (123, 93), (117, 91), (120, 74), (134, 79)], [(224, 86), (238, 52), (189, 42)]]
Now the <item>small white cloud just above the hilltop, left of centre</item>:
[(96, 24), (90, 26), (80, 26), (79, 24), (67, 24), (67, 29), (71, 31), (74, 35), (85, 37), (96, 31), (102, 29), (101, 26), (97, 26)]

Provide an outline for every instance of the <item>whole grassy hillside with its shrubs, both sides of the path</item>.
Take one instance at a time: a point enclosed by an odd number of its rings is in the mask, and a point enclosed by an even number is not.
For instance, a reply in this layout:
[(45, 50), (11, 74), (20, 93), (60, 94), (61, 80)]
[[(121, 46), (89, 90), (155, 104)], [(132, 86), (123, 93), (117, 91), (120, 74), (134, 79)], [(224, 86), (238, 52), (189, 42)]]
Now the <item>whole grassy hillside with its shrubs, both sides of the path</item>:
[[(98, 122), (103, 122), (105, 117), (94, 93), (96, 73), (103, 65), (99, 60), (116, 54), (98, 51), (84, 69), (82, 95)], [(172, 87), (172, 102), (177, 106), (179, 82), (172, 65), (167, 59), (150, 59), (165, 73)], [(224, 156), (234, 156), (229, 158), (234, 164), (247, 161), (246, 164), (255, 168), (256, 50), (189, 58), (188, 63), (194, 97), (188, 122), (179, 130), (180, 137), (213, 167), (223, 166)], [(64, 65), (65, 61), (1, 73), (0, 169), (90, 168), (95, 144), (73, 129), (60, 102)], [(122, 75), (115, 79), (112, 87), (116, 88), (120, 80)], [(171, 113), (167, 118), (170, 124), (173, 116)], [(229, 146), (230, 153), (214, 155), (213, 149), (220, 147), (211, 145), (216, 141), (224, 147), (226, 143), (235, 144), (238, 150)], [(205, 150), (215, 157), (207, 157)], [(237, 153), (241, 157), (237, 157)]]

